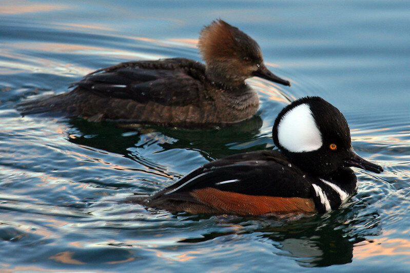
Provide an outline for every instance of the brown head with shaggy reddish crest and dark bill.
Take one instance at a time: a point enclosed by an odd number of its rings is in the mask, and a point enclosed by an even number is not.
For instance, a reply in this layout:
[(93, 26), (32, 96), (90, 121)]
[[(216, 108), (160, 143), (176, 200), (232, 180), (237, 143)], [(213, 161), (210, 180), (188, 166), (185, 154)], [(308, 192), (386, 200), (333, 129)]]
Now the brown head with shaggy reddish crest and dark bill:
[(290, 86), (289, 81), (266, 68), (255, 40), (221, 19), (202, 29), (198, 47), (210, 80), (236, 86), (243, 85), (247, 78), (258, 76)]

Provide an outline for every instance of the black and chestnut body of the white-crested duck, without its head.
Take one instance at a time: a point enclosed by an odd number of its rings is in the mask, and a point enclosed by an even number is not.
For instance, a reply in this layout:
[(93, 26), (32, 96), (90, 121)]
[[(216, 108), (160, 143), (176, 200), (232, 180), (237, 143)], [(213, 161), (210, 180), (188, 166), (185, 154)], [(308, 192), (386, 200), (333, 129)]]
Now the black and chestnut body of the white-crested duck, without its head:
[[(207, 163), (149, 198), (134, 201), (193, 214), (324, 213), (355, 193), (356, 182), (349, 168), (318, 178), (279, 151), (257, 151)], [(317, 194), (319, 189), (326, 199)]]

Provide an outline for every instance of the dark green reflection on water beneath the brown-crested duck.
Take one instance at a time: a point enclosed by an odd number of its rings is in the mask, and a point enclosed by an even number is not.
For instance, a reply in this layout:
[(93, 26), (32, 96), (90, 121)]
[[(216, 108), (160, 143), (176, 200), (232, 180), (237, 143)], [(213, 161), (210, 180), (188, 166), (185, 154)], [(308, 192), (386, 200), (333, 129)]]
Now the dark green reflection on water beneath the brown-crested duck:
[(123, 128), (114, 123), (89, 122), (81, 118), (71, 119), (68, 123), (71, 127), (68, 130), (70, 142), (122, 154), (136, 161), (141, 159), (138, 148), (147, 149), (147, 146), (154, 144), (158, 145), (156, 152), (186, 149), (197, 151), (207, 160), (212, 160), (238, 152), (266, 149), (271, 142), (270, 136), (259, 136), (263, 123), (260, 116), (254, 116), (231, 127), (207, 130), (154, 125)]

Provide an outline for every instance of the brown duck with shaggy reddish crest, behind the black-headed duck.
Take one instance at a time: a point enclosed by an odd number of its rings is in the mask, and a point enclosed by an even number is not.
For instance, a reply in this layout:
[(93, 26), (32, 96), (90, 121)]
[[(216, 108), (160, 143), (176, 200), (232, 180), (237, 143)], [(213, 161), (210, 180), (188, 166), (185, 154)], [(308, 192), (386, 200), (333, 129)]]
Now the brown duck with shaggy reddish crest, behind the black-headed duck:
[(198, 47), (205, 65), (186, 58), (123, 62), (88, 74), (68, 93), (23, 102), (19, 110), (62, 111), (90, 121), (224, 124), (258, 110), (258, 94), (245, 79), (290, 86), (266, 68), (255, 40), (223, 20), (201, 31)]

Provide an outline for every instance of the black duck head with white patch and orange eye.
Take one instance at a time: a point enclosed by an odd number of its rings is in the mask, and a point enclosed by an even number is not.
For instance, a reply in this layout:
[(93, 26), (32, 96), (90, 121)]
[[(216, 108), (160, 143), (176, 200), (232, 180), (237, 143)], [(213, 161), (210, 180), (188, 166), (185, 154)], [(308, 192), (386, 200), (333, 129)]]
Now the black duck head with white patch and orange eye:
[(279, 150), (305, 172), (323, 176), (351, 166), (383, 171), (353, 151), (343, 114), (320, 97), (301, 98), (286, 106), (276, 118), (272, 134)]

